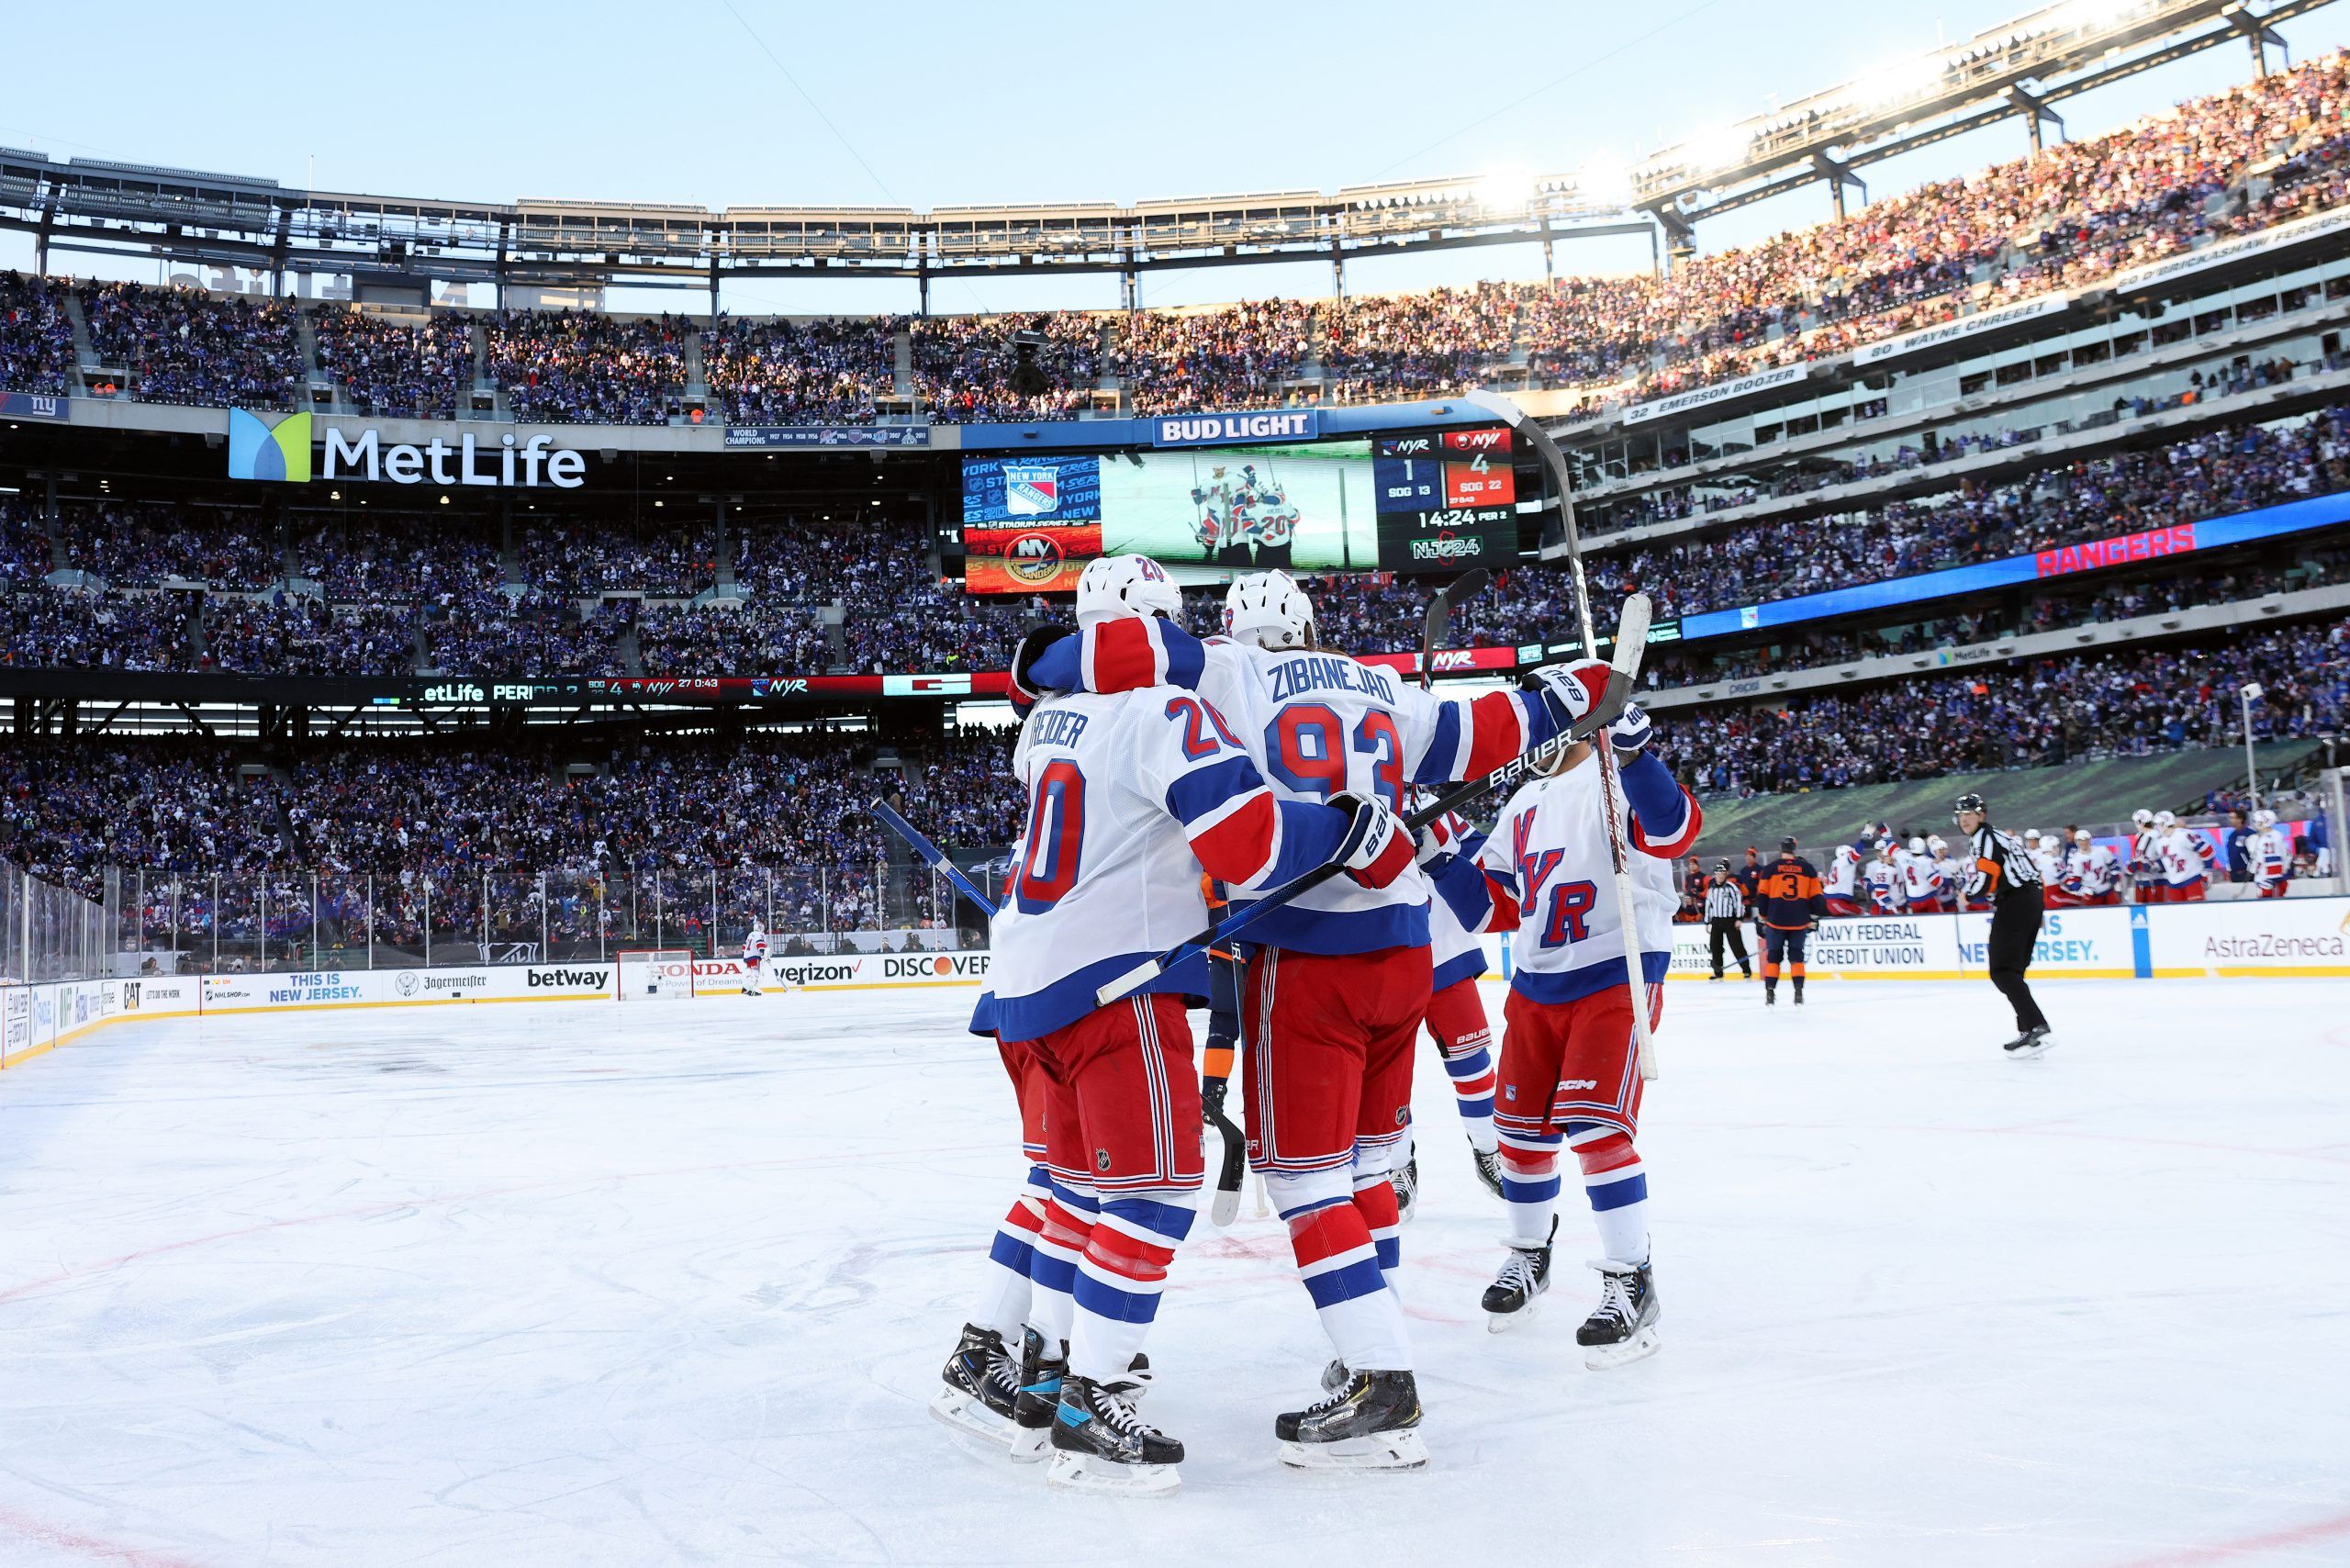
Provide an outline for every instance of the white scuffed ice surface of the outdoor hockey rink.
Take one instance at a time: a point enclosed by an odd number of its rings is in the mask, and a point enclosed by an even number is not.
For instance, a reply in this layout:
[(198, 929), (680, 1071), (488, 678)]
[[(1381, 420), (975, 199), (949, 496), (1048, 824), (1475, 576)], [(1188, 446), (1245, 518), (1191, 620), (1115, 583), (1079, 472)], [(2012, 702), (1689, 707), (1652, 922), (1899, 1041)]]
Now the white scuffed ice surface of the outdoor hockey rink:
[(1988, 985), (1676, 983), (1612, 1373), (1572, 1204), (1485, 1333), (1429, 1051), (1434, 1465), (1276, 1465), (1328, 1347), (1243, 1211), (1152, 1338), (1170, 1502), (924, 1410), (1020, 1171), (968, 992), (108, 1030), (0, 1074), (0, 1563), (2350, 1561), (2350, 983), (2042, 997), (2007, 1063)]

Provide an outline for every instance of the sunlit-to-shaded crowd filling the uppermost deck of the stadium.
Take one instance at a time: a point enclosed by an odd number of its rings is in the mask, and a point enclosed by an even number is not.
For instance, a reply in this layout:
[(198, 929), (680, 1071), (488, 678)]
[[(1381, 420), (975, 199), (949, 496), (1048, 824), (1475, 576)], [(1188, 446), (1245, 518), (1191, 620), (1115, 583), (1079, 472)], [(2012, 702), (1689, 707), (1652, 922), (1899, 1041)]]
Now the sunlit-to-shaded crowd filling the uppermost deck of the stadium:
[[(1671, 277), (1565, 277), (1422, 294), (1248, 301), (1206, 310), (996, 317), (721, 320), (573, 310), (479, 315), (517, 418), (665, 423), (686, 414), (691, 339), (717, 407), (740, 421), (865, 421), (912, 331), (933, 418), (1067, 418), (1107, 369), (1140, 414), (1292, 400), (1382, 400), (1485, 381), (1584, 388), (1591, 404), (1800, 364), (1962, 306), (2080, 287), (2207, 237), (2251, 233), (2350, 195), (2350, 59), (2329, 54), (2127, 129), (1920, 186), (1847, 219), (1699, 256)], [(80, 284), (92, 348), (132, 397), (298, 407), (289, 301)], [(59, 390), (61, 289), (0, 287), (0, 383)], [(442, 407), (470, 371), (475, 317), (425, 329), (317, 313), (317, 369), (362, 407)], [(1015, 334), (1043, 331), (1048, 390), (1013, 390)], [(1107, 348), (1104, 348), (1107, 343)]]

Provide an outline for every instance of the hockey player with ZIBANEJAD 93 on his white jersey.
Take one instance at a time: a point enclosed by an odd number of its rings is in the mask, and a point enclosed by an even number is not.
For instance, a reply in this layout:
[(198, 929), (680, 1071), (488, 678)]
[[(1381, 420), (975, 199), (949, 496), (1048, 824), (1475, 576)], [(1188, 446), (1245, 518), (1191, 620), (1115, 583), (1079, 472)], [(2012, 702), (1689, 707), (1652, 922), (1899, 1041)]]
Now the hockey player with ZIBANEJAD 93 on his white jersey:
[[(1605, 668), (1553, 670), (1530, 691), (1441, 698), (1318, 646), (1314, 604), (1278, 571), (1236, 581), (1227, 637), (1161, 628), (1133, 651), (1107, 625), (1039, 670), (1097, 689), (1135, 663), (1196, 679), (1288, 804), (1401, 804), (1415, 783), (1480, 778), (1591, 710)], [(1598, 670), (1598, 675), (1593, 675)], [(1412, 1044), (1431, 1001), (1426, 879), (1328, 882), (1250, 929), (1243, 987), (1250, 1166), (1337, 1359), (1328, 1396), (1274, 1422), (1281, 1460), (1311, 1469), (1426, 1462), (1389, 1171), (1410, 1117)]]

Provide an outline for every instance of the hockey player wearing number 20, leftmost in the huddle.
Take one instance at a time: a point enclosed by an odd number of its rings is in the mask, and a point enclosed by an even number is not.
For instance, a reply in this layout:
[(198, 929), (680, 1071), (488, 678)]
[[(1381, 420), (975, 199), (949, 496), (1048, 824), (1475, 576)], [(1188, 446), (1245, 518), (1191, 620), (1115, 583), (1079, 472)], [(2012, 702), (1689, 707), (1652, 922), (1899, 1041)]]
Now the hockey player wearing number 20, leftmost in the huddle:
[[(1184, 997), (1208, 990), (1206, 961), (1175, 964), (1112, 1006), (1095, 990), (1206, 922), (1201, 870), (1234, 889), (1281, 886), (1330, 860), (1363, 886), (1412, 870), (1394, 811), (1344, 792), (1276, 802), (1224, 717), (1166, 684), (1154, 628), (1180, 604), (1147, 557), (1090, 562), (1079, 628), (1142, 623), (1128, 642), (1142, 658), (1123, 677), (1097, 670), (1112, 679), (1095, 689), (1043, 696), (1013, 750), (1029, 818), (1015, 919), (994, 933), (994, 1027), (1027, 1041), (1046, 1077), (1046, 1239), (1074, 1255), (1074, 1326), (1065, 1371), (1046, 1347), (1032, 1382), (1060, 1378), (1050, 1479), (1076, 1488), (1177, 1483), (1182, 1443), (1137, 1415), (1133, 1361), (1201, 1185)], [(1015, 682), (1039, 686), (1034, 668), (1015, 665)]]

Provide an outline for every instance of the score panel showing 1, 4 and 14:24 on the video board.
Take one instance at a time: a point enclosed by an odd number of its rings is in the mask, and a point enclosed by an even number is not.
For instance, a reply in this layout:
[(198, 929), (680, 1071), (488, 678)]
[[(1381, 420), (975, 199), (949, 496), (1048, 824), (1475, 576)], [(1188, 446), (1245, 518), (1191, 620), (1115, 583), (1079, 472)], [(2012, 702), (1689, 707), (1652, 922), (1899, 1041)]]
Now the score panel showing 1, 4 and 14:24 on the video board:
[(1372, 442), (1382, 571), (1462, 571), (1518, 555), (1518, 470), (1506, 428)]

